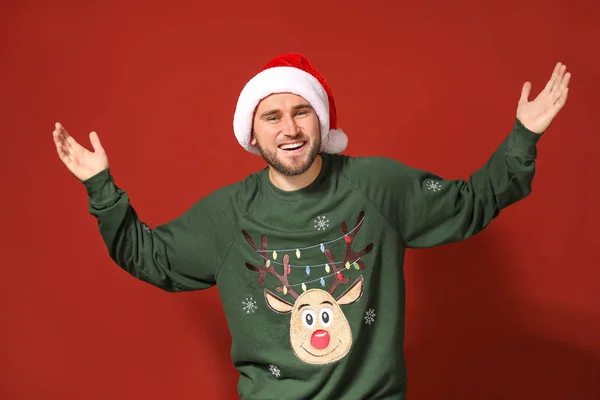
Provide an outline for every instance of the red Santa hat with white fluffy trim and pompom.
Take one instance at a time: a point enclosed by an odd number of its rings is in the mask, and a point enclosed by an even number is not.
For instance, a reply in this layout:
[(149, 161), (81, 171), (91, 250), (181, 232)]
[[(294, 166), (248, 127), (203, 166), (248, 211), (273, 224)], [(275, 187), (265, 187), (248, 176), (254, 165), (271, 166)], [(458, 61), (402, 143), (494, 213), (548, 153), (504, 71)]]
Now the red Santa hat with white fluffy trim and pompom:
[(329, 85), (305, 56), (288, 53), (270, 60), (240, 93), (233, 131), (246, 150), (260, 154), (250, 143), (254, 111), (262, 99), (273, 93), (293, 93), (310, 103), (319, 117), (321, 152), (341, 153), (348, 146), (348, 137), (337, 127), (335, 101)]

